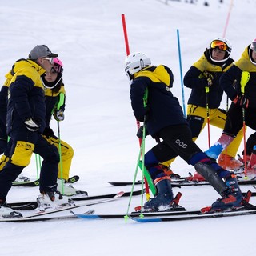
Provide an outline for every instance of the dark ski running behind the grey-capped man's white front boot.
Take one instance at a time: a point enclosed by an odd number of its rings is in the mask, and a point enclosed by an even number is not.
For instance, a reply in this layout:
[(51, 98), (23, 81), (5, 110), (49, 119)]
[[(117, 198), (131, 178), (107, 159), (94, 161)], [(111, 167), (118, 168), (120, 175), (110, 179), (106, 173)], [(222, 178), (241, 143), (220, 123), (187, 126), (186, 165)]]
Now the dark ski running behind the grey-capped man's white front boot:
[[(133, 192), (133, 195), (139, 195), (142, 194), (142, 190), (135, 190)], [(94, 199), (102, 199), (102, 198), (113, 198), (115, 194), (98, 194), (93, 196), (79, 196), (79, 197), (70, 197), (73, 201), (88, 201), (88, 200), (94, 200)], [(124, 192), (122, 197), (130, 196), (130, 192)], [(38, 207), (38, 203), (36, 201), (30, 201), (30, 202), (10, 202), (8, 205), (13, 210), (34, 210)]]

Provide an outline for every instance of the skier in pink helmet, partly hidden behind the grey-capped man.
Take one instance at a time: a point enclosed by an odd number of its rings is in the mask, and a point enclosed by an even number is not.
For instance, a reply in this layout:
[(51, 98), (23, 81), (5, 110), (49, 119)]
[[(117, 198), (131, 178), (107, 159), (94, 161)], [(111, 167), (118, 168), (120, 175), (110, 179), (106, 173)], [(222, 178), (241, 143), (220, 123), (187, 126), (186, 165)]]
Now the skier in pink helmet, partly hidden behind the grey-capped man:
[[(54, 66), (51, 68), (50, 72), (42, 74), (42, 83), (45, 87), (46, 95), (46, 128), (42, 134), (50, 139), (57, 148), (59, 147), (59, 140), (58, 137), (54, 135), (54, 131), (50, 128), (50, 120), (52, 115), (57, 122), (64, 120), (66, 92), (62, 74), (63, 64), (59, 58), (54, 58)], [(81, 191), (74, 189), (73, 186), (65, 184), (66, 182), (76, 182), (79, 178), (77, 175), (70, 178), (70, 166), (74, 156), (74, 150), (68, 143), (62, 140), (60, 145), (62, 162), (58, 165), (58, 190), (61, 191), (62, 194), (69, 196), (77, 194), (77, 192), (80, 193)]]

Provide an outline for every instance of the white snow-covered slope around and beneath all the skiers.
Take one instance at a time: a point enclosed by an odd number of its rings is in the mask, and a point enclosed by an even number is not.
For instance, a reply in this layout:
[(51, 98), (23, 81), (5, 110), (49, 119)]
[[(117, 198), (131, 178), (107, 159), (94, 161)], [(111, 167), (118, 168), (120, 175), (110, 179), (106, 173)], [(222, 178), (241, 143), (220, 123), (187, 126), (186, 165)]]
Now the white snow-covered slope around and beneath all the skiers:
[[(126, 15), (130, 51), (142, 51), (154, 65), (165, 64), (174, 72), (174, 94), (182, 104), (177, 30), (180, 34), (182, 72), (201, 57), (213, 38), (224, 35), (238, 59), (256, 37), (254, 0), (33, 0), (1, 1), (0, 76), (18, 58), (26, 58), (37, 44), (46, 44), (64, 63), (66, 119), (61, 138), (74, 147), (71, 175), (74, 184), (90, 195), (130, 191), (108, 181), (132, 181), (138, 158), (136, 122), (130, 107), (130, 86), (124, 73), (126, 47), (121, 14)], [(230, 8), (233, 2), (233, 8)], [(184, 89), (185, 102), (190, 94)], [(226, 96), (223, 97), (226, 108)], [(57, 134), (57, 126), (52, 126)], [(210, 128), (214, 143), (222, 130)], [(246, 136), (252, 131), (247, 130)], [(198, 145), (206, 150), (207, 130)], [(146, 149), (154, 145), (146, 138)], [(238, 153), (241, 154), (243, 146)], [(172, 168), (181, 175), (194, 172), (181, 158)], [(23, 174), (36, 178), (34, 158)], [(140, 174), (138, 174), (138, 179)], [(140, 186), (136, 187), (139, 189)], [(242, 191), (253, 189), (242, 186)], [(187, 210), (209, 206), (218, 194), (210, 186), (182, 189), (181, 205)], [(34, 200), (38, 188), (12, 188), (8, 202)], [(129, 198), (95, 206), (98, 214), (126, 214)], [(255, 202), (252, 198), (251, 202)], [(141, 203), (132, 198), (130, 210)], [(140, 224), (122, 219), (106, 221), (1, 223), (1, 255), (254, 255), (255, 216), (184, 222)]]

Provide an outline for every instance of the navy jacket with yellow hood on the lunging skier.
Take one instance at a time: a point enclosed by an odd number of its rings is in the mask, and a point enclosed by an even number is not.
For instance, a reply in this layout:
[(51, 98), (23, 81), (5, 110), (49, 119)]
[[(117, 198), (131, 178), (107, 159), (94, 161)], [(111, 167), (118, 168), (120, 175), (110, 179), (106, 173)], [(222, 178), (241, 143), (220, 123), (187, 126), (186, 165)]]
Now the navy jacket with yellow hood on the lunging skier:
[[(170, 88), (174, 76), (167, 66), (150, 66), (134, 74), (130, 85), (131, 106), (138, 121), (143, 122), (146, 116), (146, 129), (155, 137), (159, 130), (166, 126), (186, 124), (178, 98)], [(144, 95), (148, 91), (146, 106)]]

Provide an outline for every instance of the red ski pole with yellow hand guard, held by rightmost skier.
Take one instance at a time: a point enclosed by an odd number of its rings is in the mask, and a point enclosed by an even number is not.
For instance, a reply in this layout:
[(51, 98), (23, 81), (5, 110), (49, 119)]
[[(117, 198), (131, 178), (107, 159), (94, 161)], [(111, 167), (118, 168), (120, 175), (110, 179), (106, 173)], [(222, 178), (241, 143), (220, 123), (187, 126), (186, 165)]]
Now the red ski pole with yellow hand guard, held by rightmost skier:
[[(241, 77), (241, 92), (242, 97), (245, 95), (245, 87), (250, 79), (250, 73), (248, 71), (242, 71)], [(242, 106), (242, 130), (243, 130), (243, 162), (245, 163), (245, 179), (247, 179), (247, 163), (246, 163), (246, 107)]]

